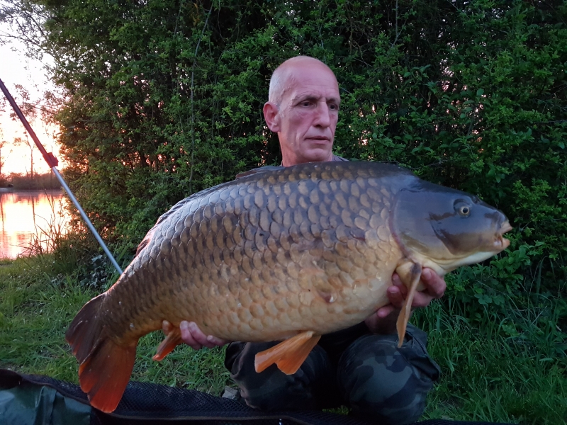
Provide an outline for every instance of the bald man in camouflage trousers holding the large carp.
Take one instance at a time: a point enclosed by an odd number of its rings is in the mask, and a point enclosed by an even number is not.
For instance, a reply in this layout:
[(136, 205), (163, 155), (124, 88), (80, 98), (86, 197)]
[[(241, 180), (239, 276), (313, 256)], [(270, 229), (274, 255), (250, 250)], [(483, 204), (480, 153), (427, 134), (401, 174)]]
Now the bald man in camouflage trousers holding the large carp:
[[(270, 80), (264, 105), (268, 128), (278, 133), (282, 165), (304, 162), (346, 161), (332, 154), (340, 95), (335, 74), (312, 57), (283, 62)], [(445, 283), (424, 269), (425, 290), (412, 307), (425, 307), (442, 297)], [(407, 293), (394, 275), (388, 288), (391, 304), (378, 309), (364, 323), (324, 335), (301, 368), (285, 375), (272, 365), (254, 371), (254, 356), (277, 342), (231, 343), (225, 365), (251, 407), (266, 410), (320, 409), (347, 404), (354, 414), (386, 423), (415, 421), (425, 408), (425, 397), (439, 368), (425, 351), (427, 336), (408, 326), (403, 346), (397, 348), (395, 319)], [(206, 336), (195, 323), (181, 322), (181, 336), (199, 349), (226, 344)]]

